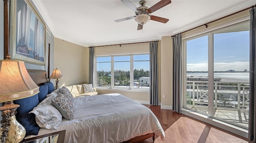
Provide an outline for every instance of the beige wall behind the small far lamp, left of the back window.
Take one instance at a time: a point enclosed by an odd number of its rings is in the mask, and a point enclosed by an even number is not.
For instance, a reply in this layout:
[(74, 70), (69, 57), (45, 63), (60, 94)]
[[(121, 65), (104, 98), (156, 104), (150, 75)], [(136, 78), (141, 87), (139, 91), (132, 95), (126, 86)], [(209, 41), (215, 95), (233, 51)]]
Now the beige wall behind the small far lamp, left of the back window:
[(88, 48), (54, 38), (54, 69), (60, 69), (64, 76), (59, 79), (60, 86), (88, 83), (88, 55)]

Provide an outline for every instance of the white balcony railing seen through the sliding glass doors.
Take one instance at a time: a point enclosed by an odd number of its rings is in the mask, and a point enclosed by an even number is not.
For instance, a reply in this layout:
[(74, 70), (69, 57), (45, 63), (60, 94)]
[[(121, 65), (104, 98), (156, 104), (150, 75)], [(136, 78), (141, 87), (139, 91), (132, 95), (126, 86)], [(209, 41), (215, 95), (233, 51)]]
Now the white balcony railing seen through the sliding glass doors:
[[(214, 108), (246, 109), (249, 107), (249, 83), (214, 81)], [(187, 81), (187, 105), (208, 105), (208, 81)]]

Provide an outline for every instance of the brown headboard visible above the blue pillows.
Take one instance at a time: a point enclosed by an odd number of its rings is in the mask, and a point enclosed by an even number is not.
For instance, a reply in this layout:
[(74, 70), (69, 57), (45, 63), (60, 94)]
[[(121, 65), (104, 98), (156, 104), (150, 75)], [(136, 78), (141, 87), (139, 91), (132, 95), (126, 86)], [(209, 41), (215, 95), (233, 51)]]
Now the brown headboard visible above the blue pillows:
[(47, 79), (47, 72), (44, 70), (27, 70), (33, 81), (39, 86), (44, 82), (49, 82)]

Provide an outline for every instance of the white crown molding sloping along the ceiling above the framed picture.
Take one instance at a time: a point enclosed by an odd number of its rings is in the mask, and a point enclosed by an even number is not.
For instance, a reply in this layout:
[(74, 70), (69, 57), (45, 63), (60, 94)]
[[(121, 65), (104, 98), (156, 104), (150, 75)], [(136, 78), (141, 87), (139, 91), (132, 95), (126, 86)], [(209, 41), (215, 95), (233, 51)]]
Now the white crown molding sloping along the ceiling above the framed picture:
[(37, 8), (38, 12), (40, 13), (40, 15), (42, 16), (43, 20), (46, 22), (46, 25), (48, 26), (48, 28), (52, 32), (52, 35), (53, 36), (57, 35), (57, 32), (56, 32), (55, 27), (52, 23), (52, 20), (50, 19), (50, 16), (48, 15), (48, 12), (46, 11), (42, 1), (41, 0), (32, 0), (32, 2), (36, 6), (36, 8)]

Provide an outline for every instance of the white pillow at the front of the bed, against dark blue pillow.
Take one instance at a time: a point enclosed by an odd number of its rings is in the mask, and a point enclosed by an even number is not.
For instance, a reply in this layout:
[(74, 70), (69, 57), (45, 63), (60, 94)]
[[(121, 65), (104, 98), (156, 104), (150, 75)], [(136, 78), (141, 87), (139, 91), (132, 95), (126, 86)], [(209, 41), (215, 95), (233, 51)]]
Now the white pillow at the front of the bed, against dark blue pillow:
[(62, 115), (58, 109), (52, 105), (52, 99), (55, 97), (56, 96), (54, 94), (47, 97), (36, 107), (34, 107), (31, 112), (29, 112), (35, 114), (36, 123), (41, 128), (56, 129), (56, 127), (62, 121)]

